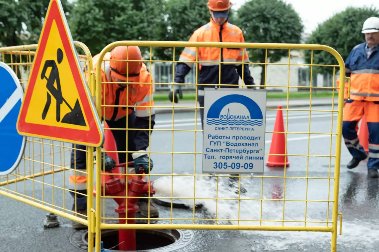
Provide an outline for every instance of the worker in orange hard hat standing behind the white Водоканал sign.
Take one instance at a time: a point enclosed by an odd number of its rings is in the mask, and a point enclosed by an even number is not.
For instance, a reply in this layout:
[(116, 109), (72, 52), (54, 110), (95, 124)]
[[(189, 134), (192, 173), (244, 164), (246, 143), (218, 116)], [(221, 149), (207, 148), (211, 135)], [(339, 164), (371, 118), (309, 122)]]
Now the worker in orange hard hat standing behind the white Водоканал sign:
[[(208, 0), (207, 4), (211, 15), (210, 22), (198, 28), (189, 38), (189, 42), (237, 42), (244, 43), (243, 33), (236, 25), (229, 23), (229, 9), (232, 3), (229, 0)], [(240, 77), (248, 88), (254, 87), (254, 79), (251, 76), (249, 65), (242, 62), (249, 62), (249, 56), (244, 48), (221, 48), (220, 64), (220, 49), (218, 47), (200, 47), (198, 49), (198, 84), (210, 84), (210, 87), (215, 87), (215, 83), (228, 84), (230, 86), (221, 86), (221, 88), (239, 88), (238, 81)], [(196, 61), (196, 47), (186, 47), (180, 54), (179, 62), (175, 67), (174, 83), (184, 83), (185, 76), (193, 67)], [(209, 63), (207, 63), (207, 61)], [(232, 63), (231, 63), (232, 62)], [(234, 64), (233, 64), (234, 63)], [(220, 73), (221, 71), (221, 73)], [(219, 79), (219, 74), (221, 78)], [(204, 87), (197, 87), (197, 100), (200, 107), (204, 107)], [(182, 85), (175, 85), (174, 92), (171, 89), (169, 99), (172, 102), (178, 102), (177, 95), (182, 98)], [(204, 128), (204, 109), (200, 108), (201, 126)], [(230, 177), (230, 182), (235, 182), (238, 177)], [(232, 186), (232, 184), (230, 184)], [(241, 187), (241, 192), (246, 190)]]

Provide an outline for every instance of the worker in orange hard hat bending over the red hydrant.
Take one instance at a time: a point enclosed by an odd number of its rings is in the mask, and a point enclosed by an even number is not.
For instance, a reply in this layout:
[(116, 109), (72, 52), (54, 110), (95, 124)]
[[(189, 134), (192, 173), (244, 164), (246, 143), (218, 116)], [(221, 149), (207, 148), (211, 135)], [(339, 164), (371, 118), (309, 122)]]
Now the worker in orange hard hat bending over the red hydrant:
[[(97, 58), (99, 54), (94, 56), (93, 61), (94, 72), (96, 71)], [(128, 57), (128, 58), (127, 58)], [(141, 51), (136, 46), (119, 46), (115, 47), (110, 53), (105, 54), (103, 60), (110, 59), (102, 63), (101, 78), (102, 82), (120, 82), (120, 83), (104, 83), (101, 87), (101, 100), (103, 103), (105, 92), (105, 104), (113, 106), (153, 106), (153, 87), (152, 79), (146, 65), (142, 62), (143, 58)], [(141, 61), (126, 61), (141, 60)], [(124, 61), (121, 61), (124, 60)], [(128, 68), (127, 68), (128, 64)], [(128, 72), (127, 72), (128, 69)], [(128, 78), (128, 79), (127, 79)], [(125, 83), (122, 82), (141, 82), (142, 84)], [(146, 84), (144, 84), (146, 83)], [(105, 86), (105, 91), (103, 91)], [(150, 101), (151, 100), (151, 101)], [(150, 103), (151, 102), (151, 103)], [(135, 172), (139, 173), (139, 167), (143, 167), (144, 173), (149, 173), (149, 155), (140, 151), (146, 151), (149, 146), (149, 124), (151, 129), (155, 124), (155, 112), (153, 107), (105, 107), (101, 109), (102, 120), (108, 123), (116, 141), (117, 151), (134, 151), (128, 153), (128, 161), (134, 160)], [(151, 117), (150, 117), (151, 115)], [(138, 131), (130, 131), (130, 129), (146, 129)], [(116, 130), (124, 129), (124, 130)], [(128, 135), (128, 143), (126, 145), (126, 137)], [(73, 145), (75, 148), (75, 145)], [(86, 149), (86, 146), (76, 145), (77, 149)], [(76, 154), (75, 154), (76, 152)], [(75, 156), (76, 155), (76, 156)], [(126, 153), (118, 153), (119, 162), (125, 163)], [(101, 165), (103, 169), (103, 154), (101, 157)], [(76, 162), (75, 162), (76, 161)], [(115, 167), (116, 162), (105, 153), (105, 171), (110, 171)], [(75, 169), (76, 165), (76, 169)], [(150, 170), (153, 168), (153, 162), (150, 159)], [(74, 151), (71, 154), (71, 169), (76, 171), (86, 172), (86, 152)], [(87, 177), (83, 173), (77, 172), (70, 175), (70, 188), (76, 192), (86, 194)], [(75, 183), (76, 182), (76, 183)], [(74, 194), (76, 197), (77, 212), (86, 215), (87, 198), (80, 194)], [(142, 195), (146, 197), (147, 195)], [(144, 217), (148, 215), (148, 199), (139, 199), (136, 205), (139, 206), (139, 213)], [(72, 206), (75, 210), (75, 201)], [(158, 217), (159, 213), (157, 208), (150, 203), (150, 218)], [(81, 217), (81, 216), (80, 216)], [(81, 217), (83, 218), (83, 217)], [(78, 222), (72, 223), (74, 229), (86, 228)]]

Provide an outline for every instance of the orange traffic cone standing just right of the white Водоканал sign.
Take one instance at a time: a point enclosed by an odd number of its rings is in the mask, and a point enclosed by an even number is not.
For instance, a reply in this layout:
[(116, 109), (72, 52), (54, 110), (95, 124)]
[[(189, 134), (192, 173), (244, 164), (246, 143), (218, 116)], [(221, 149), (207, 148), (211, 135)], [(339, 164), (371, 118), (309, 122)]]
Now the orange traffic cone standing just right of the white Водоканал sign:
[[(281, 109), (282, 106), (279, 105), (278, 109)], [(283, 123), (283, 112), (282, 110), (278, 110), (276, 114), (274, 131), (276, 132), (284, 132), (284, 123)], [(273, 138), (271, 140), (270, 152), (269, 154), (287, 154), (285, 152), (285, 135), (284, 133), (273, 133)], [(287, 160), (287, 162), (286, 162)], [(287, 156), (268, 156), (268, 160), (266, 161), (267, 166), (276, 166), (276, 167), (284, 167), (290, 166), (290, 162), (288, 161)]]

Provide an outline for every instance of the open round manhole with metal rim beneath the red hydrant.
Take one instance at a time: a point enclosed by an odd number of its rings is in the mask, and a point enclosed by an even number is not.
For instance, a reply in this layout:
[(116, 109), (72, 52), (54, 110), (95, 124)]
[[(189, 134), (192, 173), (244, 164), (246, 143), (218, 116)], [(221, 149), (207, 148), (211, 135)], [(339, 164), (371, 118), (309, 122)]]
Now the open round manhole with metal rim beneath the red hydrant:
[[(115, 220), (113, 223), (117, 223), (117, 220)], [(136, 223), (146, 222), (136, 220)], [(170, 222), (160, 220), (155, 220), (153, 223), (170, 224)], [(118, 233), (118, 229), (102, 230), (101, 240), (103, 241), (104, 249), (114, 252), (124, 251), (119, 250)], [(170, 252), (182, 249), (183, 247), (191, 243), (193, 239), (194, 233), (191, 230), (137, 229), (135, 251)], [(70, 243), (78, 249), (88, 251), (88, 230), (75, 231), (74, 233), (72, 233), (72, 235), (70, 235), (69, 240)]]

